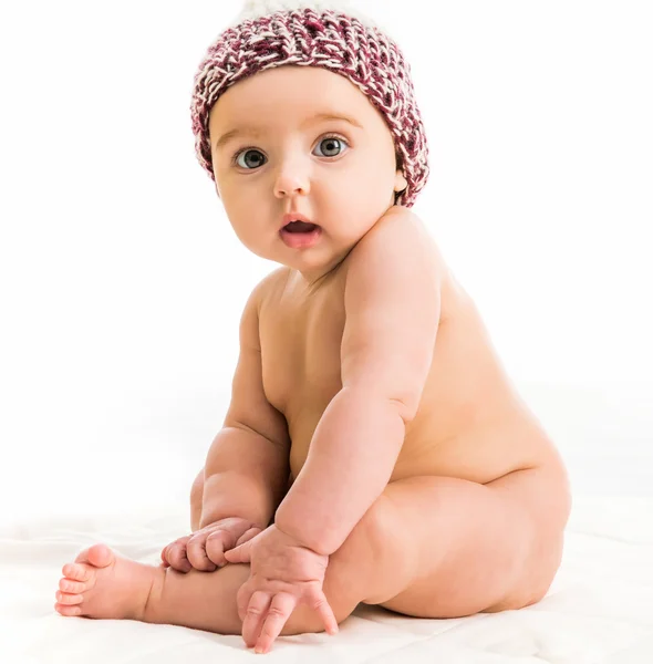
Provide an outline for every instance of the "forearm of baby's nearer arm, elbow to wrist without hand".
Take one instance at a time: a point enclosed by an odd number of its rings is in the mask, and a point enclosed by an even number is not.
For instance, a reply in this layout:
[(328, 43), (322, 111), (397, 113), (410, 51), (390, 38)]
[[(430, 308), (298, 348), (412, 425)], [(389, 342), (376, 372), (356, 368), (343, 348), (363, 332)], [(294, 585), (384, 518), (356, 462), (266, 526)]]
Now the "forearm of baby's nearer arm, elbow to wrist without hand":
[(385, 489), (404, 435), (404, 421), (390, 400), (341, 390), (277, 510), (277, 526), (314, 551), (333, 553)]

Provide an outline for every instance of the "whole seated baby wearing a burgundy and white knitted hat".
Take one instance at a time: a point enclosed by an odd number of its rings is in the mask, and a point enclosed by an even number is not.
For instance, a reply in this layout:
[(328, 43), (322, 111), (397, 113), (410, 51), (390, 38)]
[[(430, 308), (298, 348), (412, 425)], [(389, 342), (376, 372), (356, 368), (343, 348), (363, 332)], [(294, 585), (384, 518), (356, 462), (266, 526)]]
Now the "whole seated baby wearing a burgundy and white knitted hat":
[(280, 268), (240, 321), (231, 402), (163, 564), (104, 544), (62, 615), (333, 634), (547, 593), (570, 512), (553, 444), (411, 211), (427, 145), (396, 43), (340, 3), (249, 2), (195, 79), (193, 127), (242, 243)]

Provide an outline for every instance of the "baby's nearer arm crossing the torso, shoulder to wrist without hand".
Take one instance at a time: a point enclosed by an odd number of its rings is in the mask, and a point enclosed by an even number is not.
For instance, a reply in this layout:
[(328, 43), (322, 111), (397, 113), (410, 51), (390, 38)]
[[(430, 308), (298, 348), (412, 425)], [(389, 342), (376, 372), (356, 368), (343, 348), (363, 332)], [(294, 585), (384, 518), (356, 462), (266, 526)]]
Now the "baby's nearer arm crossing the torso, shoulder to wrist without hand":
[(393, 207), (350, 255), (342, 390), (276, 516), (278, 528), (331, 554), (385, 489), (428, 375), (440, 311), (433, 240)]

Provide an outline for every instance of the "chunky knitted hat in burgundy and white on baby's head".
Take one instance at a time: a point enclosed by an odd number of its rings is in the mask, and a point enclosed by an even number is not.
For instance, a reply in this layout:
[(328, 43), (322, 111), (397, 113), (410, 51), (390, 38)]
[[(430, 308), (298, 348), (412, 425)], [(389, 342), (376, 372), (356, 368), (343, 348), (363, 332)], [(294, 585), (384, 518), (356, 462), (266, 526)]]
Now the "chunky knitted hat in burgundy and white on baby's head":
[(209, 113), (225, 91), (286, 64), (320, 66), (349, 79), (384, 116), (407, 187), (395, 203), (411, 207), (428, 177), (428, 146), (397, 44), (349, 0), (246, 0), (238, 19), (208, 48), (190, 105), (195, 149), (213, 180)]

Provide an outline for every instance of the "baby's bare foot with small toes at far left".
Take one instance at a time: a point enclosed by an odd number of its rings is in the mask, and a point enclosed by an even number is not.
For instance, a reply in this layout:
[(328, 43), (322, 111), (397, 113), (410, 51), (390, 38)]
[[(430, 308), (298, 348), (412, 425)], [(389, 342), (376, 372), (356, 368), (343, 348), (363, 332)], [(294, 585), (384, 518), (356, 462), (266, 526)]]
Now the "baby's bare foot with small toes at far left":
[(54, 609), (61, 615), (143, 620), (163, 568), (122, 558), (105, 544), (82, 551), (75, 562), (63, 566)]

